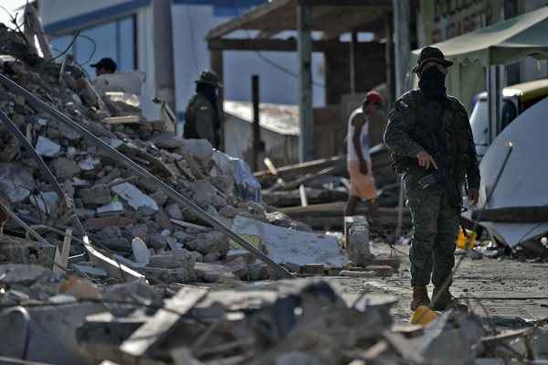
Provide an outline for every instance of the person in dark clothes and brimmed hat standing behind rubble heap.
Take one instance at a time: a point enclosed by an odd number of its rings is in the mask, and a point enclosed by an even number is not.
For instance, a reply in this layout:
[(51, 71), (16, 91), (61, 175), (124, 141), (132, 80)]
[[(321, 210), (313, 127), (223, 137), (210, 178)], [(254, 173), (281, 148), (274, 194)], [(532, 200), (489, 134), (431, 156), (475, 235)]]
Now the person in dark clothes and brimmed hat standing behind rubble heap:
[(214, 148), (219, 148), (220, 116), (217, 91), (222, 87), (213, 71), (203, 71), (196, 82), (196, 93), (186, 105), (184, 138), (208, 140)]

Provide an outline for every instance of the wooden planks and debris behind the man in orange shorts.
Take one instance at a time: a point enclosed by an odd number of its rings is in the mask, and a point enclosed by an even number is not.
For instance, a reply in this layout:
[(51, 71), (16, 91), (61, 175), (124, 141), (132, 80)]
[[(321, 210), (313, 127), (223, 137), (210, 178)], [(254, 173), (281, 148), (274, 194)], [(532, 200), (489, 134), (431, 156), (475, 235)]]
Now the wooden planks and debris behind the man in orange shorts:
[[(393, 231), (398, 221), (399, 183), (386, 147), (375, 145), (370, 153), (378, 188), (376, 202), (381, 207), (378, 211), (379, 223), (386, 230)], [(350, 191), (345, 156), (279, 168), (268, 159), (265, 162), (269, 169), (255, 174), (263, 187), (262, 198), (265, 202), (313, 229), (342, 230), (342, 211)], [(357, 214), (364, 211), (364, 207), (358, 207)], [(403, 224), (406, 228), (411, 226), (411, 216), (406, 208)]]

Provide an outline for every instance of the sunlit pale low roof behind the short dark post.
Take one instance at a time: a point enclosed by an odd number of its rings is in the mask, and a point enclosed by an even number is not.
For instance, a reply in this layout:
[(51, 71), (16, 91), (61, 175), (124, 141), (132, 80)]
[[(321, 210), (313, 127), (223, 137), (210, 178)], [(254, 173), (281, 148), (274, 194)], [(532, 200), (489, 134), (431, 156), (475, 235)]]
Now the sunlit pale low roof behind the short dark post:
[[(253, 122), (253, 105), (251, 102), (225, 101), (225, 113), (236, 116), (248, 123)], [(278, 134), (299, 135), (299, 107), (297, 105), (270, 104), (261, 102), (259, 125)]]

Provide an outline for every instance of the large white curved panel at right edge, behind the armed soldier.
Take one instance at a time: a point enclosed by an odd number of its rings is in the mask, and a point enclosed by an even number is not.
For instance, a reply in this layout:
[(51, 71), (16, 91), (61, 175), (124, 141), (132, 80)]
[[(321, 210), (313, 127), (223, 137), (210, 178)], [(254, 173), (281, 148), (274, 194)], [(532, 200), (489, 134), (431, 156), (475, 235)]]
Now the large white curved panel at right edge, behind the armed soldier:
[[(522, 113), (495, 139), (481, 160), (479, 208), (530, 207), (548, 204), (548, 98)], [(492, 192), (489, 203), (485, 199), (495, 179), (512, 151), (501, 179)], [(467, 214), (469, 216), (469, 214)], [(546, 223), (482, 222), (497, 239), (511, 247), (548, 231)]]

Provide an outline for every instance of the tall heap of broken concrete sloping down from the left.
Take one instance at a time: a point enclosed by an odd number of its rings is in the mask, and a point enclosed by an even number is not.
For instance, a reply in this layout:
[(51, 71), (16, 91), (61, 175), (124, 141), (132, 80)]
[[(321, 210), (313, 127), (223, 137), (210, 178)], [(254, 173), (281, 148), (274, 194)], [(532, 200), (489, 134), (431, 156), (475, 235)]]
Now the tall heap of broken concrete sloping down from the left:
[[(163, 123), (107, 123), (111, 112), (81, 69), (67, 65), (61, 73), (59, 63), (27, 52), (24, 38), (3, 25), (0, 40), (3, 74), (162, 178), (227, 227), (231, 227), (235, 217), (242, 216), (310, 231), (266, 205), (240, 199), (235, 177), (216, 162), (221, 154), (207, 141), (176, 138), (165, 133)], [(227, 237), (198, 219), (190, 209), (168, 199), (149, 181), (117, 164), (113, 156), (88, 144), (79, 133), (4, 86), (0, 86), (0, 108), (26, 135), (68, 198), (73, 199), (93, 244), (113, 253), (116, 261), (147, 279), (167, 283), (214, 280), (218, 275), (210, 273), (225, 267), (212, 268), (207, 263), (227, 259)], [(61, 208), (54, 187), (37, 169), (36, 161), (4, 125), (0, 125), (0, 190), (17, 216), (40, 226), (47, 242), (60, 245), (62, 236), (59, 241), (58, 232), (52, 229), (64, 232), (70, 217)], [(10, 220), (8, 231), (19, 230), (13, 224)], [(82, 252), (81, 244), (73, 243), (69, 256)], [(9, 261), (13, 255), (6, 252), (5, 259)], [(203, 263), (198, 265), (201, 269), (195, 270), (195, 263)], [(243, 265), (234, 269), (238, 277), (264, 279), (269, 275), (262, 263), (248, 257)], [(104, 276), (90, 268), (90, 263), (80, 266), (86, 274)]]

